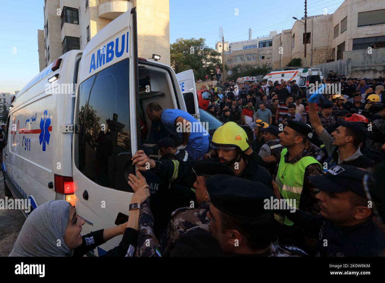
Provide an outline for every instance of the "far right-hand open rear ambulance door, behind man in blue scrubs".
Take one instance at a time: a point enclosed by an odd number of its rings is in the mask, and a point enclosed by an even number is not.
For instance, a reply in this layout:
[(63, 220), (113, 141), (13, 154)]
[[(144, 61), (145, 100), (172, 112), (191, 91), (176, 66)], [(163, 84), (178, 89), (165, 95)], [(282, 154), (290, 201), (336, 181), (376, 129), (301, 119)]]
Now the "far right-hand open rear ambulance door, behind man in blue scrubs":
[(196, 94), (194, 72), (187, 70), (176, 74), (186, 109), (189, 114), (199, 121), (198, 95)]

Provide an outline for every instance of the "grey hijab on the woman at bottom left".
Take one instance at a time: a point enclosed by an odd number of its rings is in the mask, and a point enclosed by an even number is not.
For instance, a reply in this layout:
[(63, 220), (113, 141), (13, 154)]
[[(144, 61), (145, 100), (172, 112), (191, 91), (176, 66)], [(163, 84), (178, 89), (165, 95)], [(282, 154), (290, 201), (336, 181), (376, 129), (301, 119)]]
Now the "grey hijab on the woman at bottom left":
[(34, 209), (9, 256), (72, 256), (63, 239), (69, 214), (70, 203), (64, 200), (49, 201)]

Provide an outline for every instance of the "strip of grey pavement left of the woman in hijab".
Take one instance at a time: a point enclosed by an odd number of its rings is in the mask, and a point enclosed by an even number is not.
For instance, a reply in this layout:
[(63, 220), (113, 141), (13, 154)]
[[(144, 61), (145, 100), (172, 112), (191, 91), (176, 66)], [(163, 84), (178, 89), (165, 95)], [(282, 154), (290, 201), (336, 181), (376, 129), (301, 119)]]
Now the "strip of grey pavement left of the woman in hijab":
[[(5, 199), (2, 171), (0, 171), (0, 199)], [(20, 210), (0, 209), (0, 256), (9, 255), (24, 221), (25, 216)]]

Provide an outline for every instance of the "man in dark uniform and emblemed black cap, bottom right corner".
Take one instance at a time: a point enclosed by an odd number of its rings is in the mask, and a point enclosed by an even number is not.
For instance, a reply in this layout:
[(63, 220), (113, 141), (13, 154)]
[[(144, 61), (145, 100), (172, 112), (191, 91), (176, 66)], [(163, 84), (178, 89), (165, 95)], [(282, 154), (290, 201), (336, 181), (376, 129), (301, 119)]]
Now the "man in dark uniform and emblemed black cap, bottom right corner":
[(286, 216), (317, 241), (317, 256), (383, 256), (385, 234), (373, 221), (363, 179), (367, 171), (355, 166), (331, 167), (325, 175), (309, 179), (321, 214), (297, 210)]

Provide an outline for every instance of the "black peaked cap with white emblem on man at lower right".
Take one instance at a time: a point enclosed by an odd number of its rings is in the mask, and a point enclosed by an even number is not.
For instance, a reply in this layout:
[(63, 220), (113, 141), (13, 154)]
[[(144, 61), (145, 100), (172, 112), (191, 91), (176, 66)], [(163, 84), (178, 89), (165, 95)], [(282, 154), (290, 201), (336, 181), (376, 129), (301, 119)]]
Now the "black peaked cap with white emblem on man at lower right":
[(363, 176), (368, 171), (359, 169), (356, 166), (337, 165), (331, 167), (326, 174), (309, 176), (309, 180), (320, 191), (326, 193), (353, 192), (366, 198), (363, 187)]

